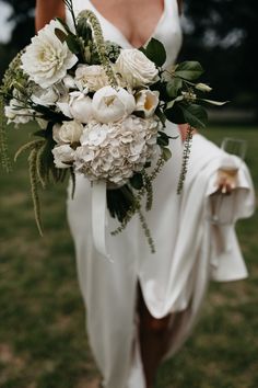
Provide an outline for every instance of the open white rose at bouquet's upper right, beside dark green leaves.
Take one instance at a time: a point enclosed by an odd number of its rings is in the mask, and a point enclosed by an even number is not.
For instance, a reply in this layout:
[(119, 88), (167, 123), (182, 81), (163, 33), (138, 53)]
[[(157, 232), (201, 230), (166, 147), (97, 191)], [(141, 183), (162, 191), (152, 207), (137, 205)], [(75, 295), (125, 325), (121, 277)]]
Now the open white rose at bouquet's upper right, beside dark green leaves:
[(144, 87), (157, 80), (157, 69), (146, 56), (137, 48), (125, 48), (116, 61), (116, 71), (132, 88)]

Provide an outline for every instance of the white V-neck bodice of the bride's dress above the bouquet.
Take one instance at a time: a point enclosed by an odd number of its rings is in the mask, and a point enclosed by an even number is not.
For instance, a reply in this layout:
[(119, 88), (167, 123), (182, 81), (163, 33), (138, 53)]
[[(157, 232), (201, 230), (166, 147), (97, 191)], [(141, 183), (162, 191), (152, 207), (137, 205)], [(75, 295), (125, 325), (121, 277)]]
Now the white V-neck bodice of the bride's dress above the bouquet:
[[(96, 14), (101, 22), (105, 39), (116, 42), (124, 48), (133, 47), (120, 30), (102, 15), (102, 13), (93, 5), (91, 0), (73, 0), (73, 7), (75, 14), (85, 9), (90, 9)], [(67, 12), (67, 19), (68, 23), (71, 24), (71, 16), (69, 12)], [(175, 62), (181, 46), (181, 28), (176, 0), (164, 0), (163, 14), (148, 42), (152, 37), (155, 37), (163, 43), (167, 54), (165, 66), (172, 66)]]

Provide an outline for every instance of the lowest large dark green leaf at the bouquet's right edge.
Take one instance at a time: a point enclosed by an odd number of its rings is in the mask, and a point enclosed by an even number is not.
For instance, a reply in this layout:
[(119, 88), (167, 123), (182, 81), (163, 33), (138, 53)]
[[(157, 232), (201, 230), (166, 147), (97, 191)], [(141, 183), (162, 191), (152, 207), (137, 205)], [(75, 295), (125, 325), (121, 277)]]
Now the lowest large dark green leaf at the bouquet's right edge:
[(208, 123), (208, 114), (204, 107), (197, 104), (179, 105), (185, 122), (197, 129), (203, 129)]

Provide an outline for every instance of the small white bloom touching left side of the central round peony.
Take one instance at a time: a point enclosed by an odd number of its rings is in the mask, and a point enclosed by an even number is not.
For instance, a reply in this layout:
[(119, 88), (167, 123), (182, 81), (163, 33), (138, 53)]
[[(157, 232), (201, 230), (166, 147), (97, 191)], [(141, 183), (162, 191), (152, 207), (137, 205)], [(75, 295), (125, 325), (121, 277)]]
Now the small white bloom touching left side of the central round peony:
[(92, 99), (80, 92), (74, 92), (74, 95), (70, 93), (72, 99), (69, 103), (71, 116), (80, 123), (89, 123), (93, 117)]

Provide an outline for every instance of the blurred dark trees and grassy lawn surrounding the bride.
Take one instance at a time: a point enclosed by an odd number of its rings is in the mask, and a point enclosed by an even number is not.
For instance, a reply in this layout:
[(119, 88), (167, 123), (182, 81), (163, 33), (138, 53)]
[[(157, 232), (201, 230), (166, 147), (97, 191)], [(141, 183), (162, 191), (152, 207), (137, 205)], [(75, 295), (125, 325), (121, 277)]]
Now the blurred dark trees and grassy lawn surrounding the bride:
[[(255, 0), (184, 0), (180, 60), (199, 60), (212, 98), (206, 136), (247, 140), (246, 162), (258, 183), (258, 78)], [(33, 0), (0, 0), (0, 78), (34, 35)], [(28, 139), (10, 127), (10, 153)], [(98, 378), (84, 334), (74, 252), (66, 221), (66, 184), (42, 193), (39, 238), (30, 197), (26, 158), (0, 173), (0, 387), (84, 388)], [(250, 276), (212, 284), (195, 335), (160, 370), (159, 388), (258, 387), (257, 215), (237, 225)]]

